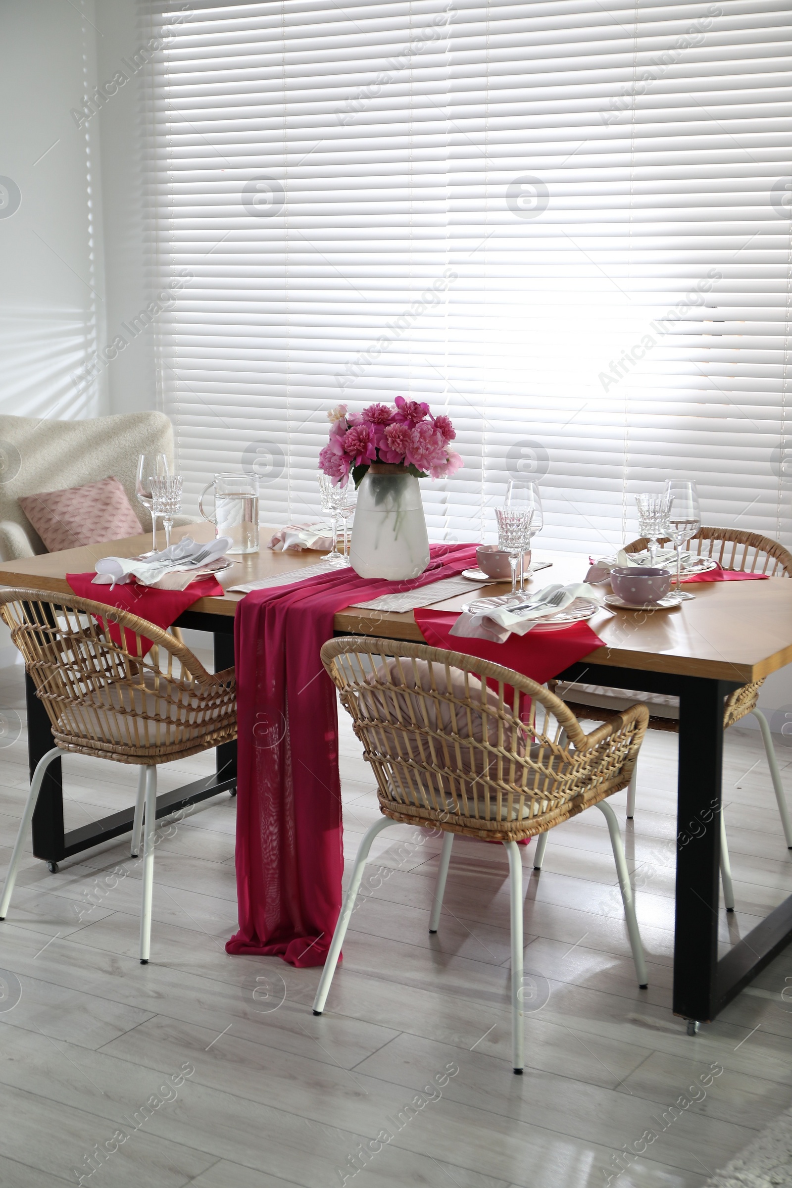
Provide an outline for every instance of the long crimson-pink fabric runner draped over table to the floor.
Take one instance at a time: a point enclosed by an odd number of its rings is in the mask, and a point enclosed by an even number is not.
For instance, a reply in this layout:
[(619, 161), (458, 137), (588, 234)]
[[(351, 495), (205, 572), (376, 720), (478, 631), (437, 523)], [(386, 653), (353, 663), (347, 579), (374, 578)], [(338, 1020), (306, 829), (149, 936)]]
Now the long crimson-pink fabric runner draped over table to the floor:
[(433, 545), (411, 582), (353, 569), (253, 590), (234, 623), (237, 695), (236, 891), (228, 953), (323, 965), (341, 910), (343, 851), (335, 689), (319, 651), (353, 602), (475, 565), (474, 545)]

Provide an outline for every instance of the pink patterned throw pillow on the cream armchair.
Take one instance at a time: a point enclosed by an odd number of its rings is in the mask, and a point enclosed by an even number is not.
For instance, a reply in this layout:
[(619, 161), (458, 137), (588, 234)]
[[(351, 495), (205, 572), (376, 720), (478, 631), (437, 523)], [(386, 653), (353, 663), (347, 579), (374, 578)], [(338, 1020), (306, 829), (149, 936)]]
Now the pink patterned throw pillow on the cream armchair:
[(118, 479), (23, 495), (19, 506), (49, 552), (140, 536), (142, 525)]

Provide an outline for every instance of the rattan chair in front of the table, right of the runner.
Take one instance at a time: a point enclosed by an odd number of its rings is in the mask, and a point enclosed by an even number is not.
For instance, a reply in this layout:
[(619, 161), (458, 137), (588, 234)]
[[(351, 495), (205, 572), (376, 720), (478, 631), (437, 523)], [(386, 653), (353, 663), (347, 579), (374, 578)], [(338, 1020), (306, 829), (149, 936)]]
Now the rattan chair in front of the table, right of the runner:
[[(488, 661), (423, 644), (343, 638), (322, 661), (353, 718), (382, 820), (363, 838), (313, 1003), (321, 1015), (372, 842), (397, 822), (444, 833), (429, 930), (437, 931), (454, 834), (502, 841), (512, 905), (514, 1072), (522, 1072), (522, 864), (517, 842), (596, 804), (606, 816), (641, 987), (646, 962), (616, 815), (648, 712), (634, 706), (587, 734), (546, 688)], [(520, 707), (525, 721), (520, 719)]]

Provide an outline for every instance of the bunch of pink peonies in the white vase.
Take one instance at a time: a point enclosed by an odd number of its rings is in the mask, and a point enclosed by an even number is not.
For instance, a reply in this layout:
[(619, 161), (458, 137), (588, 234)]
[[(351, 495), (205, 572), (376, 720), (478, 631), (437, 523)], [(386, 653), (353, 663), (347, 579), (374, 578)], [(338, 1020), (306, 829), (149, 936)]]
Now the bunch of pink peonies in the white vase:
[(463, 465), (449, 449), (456, 437), (449, 417), (433, 417), (429, 405), (397, 396), (395, 407), (369, 404), (362, 412), (347, 412), (338, 404), (328, 412), (330, 441), (319, 454), (319, 469), (346, 482), (351, 473), (355, 486), (372, 462), (403, 466), (417, 479), (448, 479)]

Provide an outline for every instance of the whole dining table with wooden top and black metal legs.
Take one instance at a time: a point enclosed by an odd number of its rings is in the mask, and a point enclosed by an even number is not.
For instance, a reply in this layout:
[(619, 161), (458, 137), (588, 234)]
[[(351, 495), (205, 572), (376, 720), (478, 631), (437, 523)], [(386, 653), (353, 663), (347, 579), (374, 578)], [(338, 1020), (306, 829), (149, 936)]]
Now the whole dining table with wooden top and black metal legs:
[[(177, 529), (211, 539), (209, 524)], [(229, 587), (255, 582), (316, 564), (316, 552), (274, 552), (266, 548), (272, 530), (261, 529), (261, 550), (235, 561), (218, 575), (222, 598), (202, 598), (176, 626), (214, 636), (215, 668), (234, 663), (234, 613), (243, 594)], [(0, 563), (0, 584), (24, 589), (71, 593), (68, 573), (93, 570), (100, 557), (135, 556), (151, 546), (151, 537), (131, 537), (106, 544), (49, 552)], [(581, 554), (543, 552), (550, 561), (531, 579), (537, 589), (550, 582), (582, 581), (588, 568)], [(503, 584), (471, 590), (501, 593)], [(677, 881), (673, 962), (673, 1011), (689, 1020), (714, 1019), (720, 1011), (792, 940), (792, 896), (718, 959), (720, 826), (723, 764), (723, 703), (734, 690), (768, 676), (792, 662), (792, 581), (696, 583), (696, 598), (669, 611), (598, 612), (590, 626), (602, 646), (558, 674), (564, 681), (614, 689), (639, 689), (679, 697), (679, 770), (677, 786)], [(435, 605), (458, 609), (470, 594)], [(423, 642), (412, 612), (395, 613), (347, 607), (335, 615), (336, 634)], [(28, 758), (31, 773), (52, 746), (50, 723), (27, 688)], [(216, 772), (205, 779), (164, 794), (157, 816), (234, 791), (235, 744), (217, 748)], [(132, 830), (132, 809), (64, 833), (59, 763), (52, 764), (33, 816), (33, 853), (51, 868), (64, 858)]]

